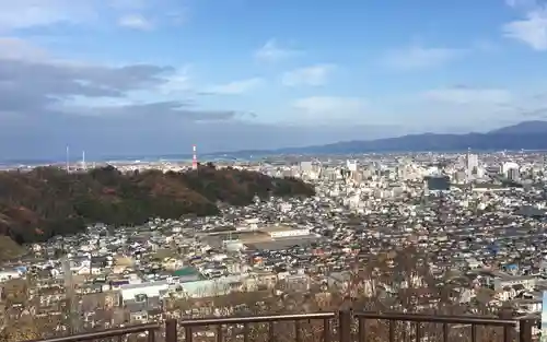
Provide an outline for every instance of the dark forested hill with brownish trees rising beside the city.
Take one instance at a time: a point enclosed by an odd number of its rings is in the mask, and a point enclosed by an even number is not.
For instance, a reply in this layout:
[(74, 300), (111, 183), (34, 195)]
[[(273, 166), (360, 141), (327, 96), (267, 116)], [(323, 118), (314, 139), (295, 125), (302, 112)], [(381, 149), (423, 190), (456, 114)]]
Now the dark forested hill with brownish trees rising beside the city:
[(0, 173), (0, 235), (15, 241), (46, 240), (82, 231), (89, 223), (137, 225), (150, 217), (219, 212), (218, 201), (246, 205), (267, 198), (313, 196), (294, 178), (272, 178), (234, 168), (200, 165), (197, 172), (121, 174), (104, 167), (67, 174), (54, 167)]

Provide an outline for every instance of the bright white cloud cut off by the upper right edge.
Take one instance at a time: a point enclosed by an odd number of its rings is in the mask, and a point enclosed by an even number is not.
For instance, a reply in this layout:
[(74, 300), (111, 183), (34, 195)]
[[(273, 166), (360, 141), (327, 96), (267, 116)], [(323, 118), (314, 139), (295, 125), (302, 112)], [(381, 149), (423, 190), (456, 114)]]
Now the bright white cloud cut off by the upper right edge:
[(504, 24), (502, 32), (535, 50), (547, 50), (547, 8), (537, 5), (526, 10), (523, 19)]

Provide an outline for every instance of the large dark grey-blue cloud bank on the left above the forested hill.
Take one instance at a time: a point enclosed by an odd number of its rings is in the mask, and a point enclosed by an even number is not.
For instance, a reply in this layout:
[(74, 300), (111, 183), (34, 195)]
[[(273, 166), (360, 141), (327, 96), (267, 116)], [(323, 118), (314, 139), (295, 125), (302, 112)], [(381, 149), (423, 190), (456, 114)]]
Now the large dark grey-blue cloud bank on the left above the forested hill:
[[(7, 54), (1, 47), (14, 47), (15, 52)], [(230, 109), (200, 109), (184, 93), (162, 98), (158, 92), (162, 86), (184, 87), (177, 84), (177, 81), (185, 82), (184, 68), (177, 74), (173, 67), (150, 63), (113, 67), (60, 61), (49, 56), (39, 59), (32, 56), (32, 46), (13, 38), (0, 42), (0, 52), (5, 56), (0, 55), (2, 127), (45, 134), (39, 140), (47, 140), (48, 135), (57, 139), (70, 132), (59, 140), (69, 141), (77, 127), (85, 127), (86, 133), (102, 133), (104, 127), (119, 127), (119, 134), (127, 134), (206, 121), (226, 122), (243, 117)], [(195, 133), (191, 129), (188, 132)]]

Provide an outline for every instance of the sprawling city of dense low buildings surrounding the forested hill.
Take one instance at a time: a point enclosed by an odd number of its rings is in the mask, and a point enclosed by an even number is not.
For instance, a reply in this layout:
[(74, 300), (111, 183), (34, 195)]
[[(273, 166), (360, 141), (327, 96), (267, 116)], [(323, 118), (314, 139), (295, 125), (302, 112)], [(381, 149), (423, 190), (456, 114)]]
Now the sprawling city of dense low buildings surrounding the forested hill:
[[(67, 177), (83, 172), (82, 162), (66, 166)], [(348, 298), (373, 311), (540, 316), (543, 153), (270, 156), (214, 166), (195, 154), (189, 162), (110, 167), (245, 169), (299, 179), (315, 192), (255, 196), (244, 207), (221, 204), (216, 215), (150, 217), (135, 226), (97, 222), (25, 244), (0, 272), (11, 337), (256, 310), (314, 312)]]

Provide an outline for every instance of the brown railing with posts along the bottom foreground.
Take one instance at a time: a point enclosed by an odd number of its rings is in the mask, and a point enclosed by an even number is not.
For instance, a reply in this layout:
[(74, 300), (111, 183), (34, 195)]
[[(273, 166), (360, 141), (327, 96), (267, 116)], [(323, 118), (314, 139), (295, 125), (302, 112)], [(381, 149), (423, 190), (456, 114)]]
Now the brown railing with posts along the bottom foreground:
[[(376, 323), (372, 323), (373, 321)], [(293, 322), (294, 325), (288, 329), (283, 322), (291, 325)], [(384, 322), (380, 326), (387, 327), (387, 334), (385, 334), (386, 342), (398, 340), (431, 342), (433, 341), (431, 339), (433, 332), (430, 329), (426, 329), (429, 325), (434, 325), (439, 328), (439, 333), (443, 342), (453, 341), (453, 338), (456, 337), (458, 340), (484, 342), (480, 338), (477, 338), (477, 327), (501, 327), (503, 329), (503, 342), (532, 342), (532, 330), (537, 319), (498, 319), (476, 316), (342, 310), (338, 312), (327, 311), (299, 315), (232, 316), (183, 320), (167, 319), (165, 325), (149, 323), (131, 326), (62, 338), (34, 340), (31, 342), (78, 342), (112, 338), (118, 338), (118, 342), (121, 342), (125, 335), (143, 332), (148, 333), (146, 337), (148, 342), (155, 342), (158, 333), (163, 328), (165, 330), (162, 331), (162, 338), (164, 337), (165, 342), (201, 342), (213, 340), (216, 342), (226, 342), (228, 338), (232, 338), (231, 340), (233, 341), (234, 337), (236, 341), (242, 342), (256, 342), (257, 340), (284, 342), (284, 339), (280, 339), (280, 334), (287, 332), (290, 333), (289, 340), (295, 342), (302, 342), (304, 335), (315, 337), (314, 341), (321, 340), (322, 342), (366, 342), (370, 340), (368, 328), (380, 327), (377, 322)], [(400, 326), (404, 329), (397, 329)], [(462, 334), (459, 329), (457, 329), (467, 327), (470, 327), (470, 337)], [(211, 328), (214, 331), (211, 331)], [(252, 328), (255, 328), (253, 333)], [(179, 335), (179, 331), (184, 332), (184, 334)], [(437, 329), (434, 332), (437, 333)], [(403, 338), (400, 338), (401, 334)]]

